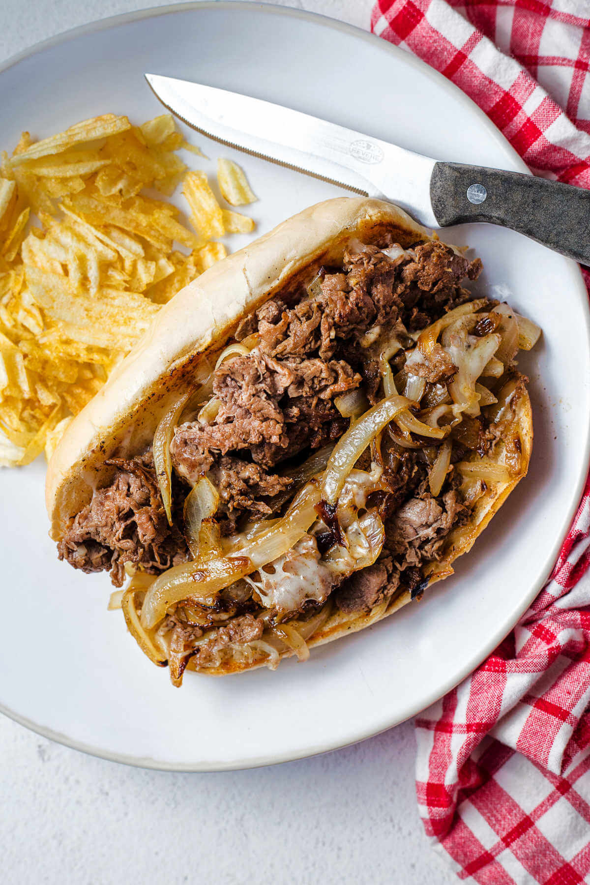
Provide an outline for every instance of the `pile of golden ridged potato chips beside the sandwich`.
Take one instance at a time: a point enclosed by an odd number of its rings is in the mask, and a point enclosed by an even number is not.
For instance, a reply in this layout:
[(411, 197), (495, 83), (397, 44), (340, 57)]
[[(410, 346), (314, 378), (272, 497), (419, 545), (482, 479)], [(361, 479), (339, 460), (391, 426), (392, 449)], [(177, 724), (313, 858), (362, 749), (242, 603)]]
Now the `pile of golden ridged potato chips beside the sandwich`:
[[(2, 153), (0, 465), (50, 458), (160, 305), (225, 258), (211, 237), (253, 229), (188, 173), (181, 148), (203, 156), (170, 114), (141, 127), (106, 114), (40, 142), (25, 132)], [(196, 233), (146, 193), (181, 181)]]

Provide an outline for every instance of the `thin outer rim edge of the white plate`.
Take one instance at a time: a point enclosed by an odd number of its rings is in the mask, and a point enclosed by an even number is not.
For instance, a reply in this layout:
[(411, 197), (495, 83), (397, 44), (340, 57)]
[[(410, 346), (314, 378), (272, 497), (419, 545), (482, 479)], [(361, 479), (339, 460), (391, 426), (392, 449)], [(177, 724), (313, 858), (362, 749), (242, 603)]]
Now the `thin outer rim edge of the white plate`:
[[(465, 95), (463, 90), (459, 89), (459, 87), (456, 86), (455, 83), (449, 81), (440, 72), (434, 70), (432, 67), (430, 67), (430, 65), (427, 65), (420, 58), (410, 55), (410, 52), (402, 50), (400, 47), (395, 46), (393, 43), (388, 42), (384, 38), (379, 37), (378, 35), (374, 35), (370, 31), (364, 31), (362, 28), (356, 27), (355, 25), (350, 25), (348, 22), (342, 22), (338, 19), (332, 19), (329, 16), (323, 15), (318, 12), (308, 12), (306, 10), (295, 9), (289, 6), (278, 6), (276, 4), (268, 3), (256, 3), (253, 2), (253, 0), (191, 0), (191, 2), (189, 3), (175, 3), (169, 6), (152, 6), (146, 9), (136, 10), (134, 12), (123, 12), (117, 15), (108, 16), (104, 19), (96, 19), (86, 22), (83, 25), (68, 28), (65, 31), (61, 31), (56, 35), (52, 35), (46, 38), (45, 40), (36, 42), (32, 46), (29, 46), (24, 50), (20, 50), (19, 52), (12, 55), (10, 58), (5, 59), (4, 62), (0, 64), (0, 76), (5, 71), (10, 69), (14, 65), (19, 64), (19, 62), (24, 61), (25, 59), (32, 58), (43, 50), (73, 41), (80, 36), (96, 34), (100, 31), (109, 30), (112, 27), (119, 27), (132, 23), (134, 21), (140, 21), (142, 19), (156, 19), (162, 15), (173, 15), (178, 12), (197, 12), (200, 10), (204, 11), (208, 9), (221, 9), (228, 12), (247, 9), (249, 10), (249, 12), (266, 12), (274, 15), (282, 15), (292, 19), (304, 19), (306, 21), (310, 21), (311, 23), (320, 24), (324, 27), (332, 27), (336, 31), (341, 31), (342, 33), (353, 35), (356, 38), (361, 38), (365, 42), (369, 42), (375, 47), (379, 47), (380, 50), (385, 50), (386, 52), (388, 51), (393, 56), (397, 58), (402, 58), (404, 64), (410, 65), (410, 67), (415, 67), (421, 73), (428, 76), (431, 80), (437, 82), (448, 92), (453, 93), (460, 103), (469, 107), (471, 113), (476, 112), (476, 116), (479, 117), (480, 125), (487, 130), (487, 135), (490, 135), (494, 139), (494, 142), (497, 144), (498, 148), (502, 150), (502, 153), (507, 158), (510, 165), (516, 167), (517, 171), (532, 174), (528, 166), (525, 165), (524, 160), (520, 158), (520, 156), (517, 154), (517, 151), (514, 150), (508, 139), (504, 135), (502, 135), (500, 129), (494, 126), (494, 123), (487, 117), (487, 114), (483, 112), (481, 108), (479, 108), (479, 105), (476, 104), (469, 96)], [(563, 258), (563, 261), (565, 262), (565, 266), (569, 266), (572, 285), (576, 285), (577, 289), (579, 290), (579, 296), (582, 301), (582, 310), (586, 320), (586, 333), (588, 341), (590, 341), (590, 304), (588, 302), (586, 284), (584, 282), (579, 265), (576, 262), (572, 261), (570, 258)], [(590, 462), (590, 416), (588, 417), (586, 426), (584, 460), (586, 462), (586, 465)], [(261, 755), (257, 758), (235, 759), (231, 763), (213, 761), (210, 764), (205, 764), (203, 762), (188, 762), (186, 764), (182, 764), (178, 762), (170, 763), (165, 761), (164, 759), (137, 757), (130, 756), (126, 753), (111, 752), (109, 750), (104, 750), (100, 747), (96, 747), (91, 743), (73, 740), (72, 738), (68, 737), (68, 735), (55, 731), (52, 728), (39, 725), (33, 720), (29, 720), (26, 716), (21, 716), (18, 712), (11, 711), (8, 707), (4, 706), (4, 704), (0, 704), (0, 712), (4, 713), (4, 715), (9, 719), (19, 723), (19, 725), (28, 728), (35, 734), (41, 735), (42, 737), (48, 738), (49, 740), (55, 741), (56, 743), (60, 743), (72, 750), (78, 750), (80, 752), (87, 753), (89, 756), (102, 758), (109, 762), (117, 762), (122, 765), (134, 766), (137, 768), (146, 768), (155, 771), (239, 771), (249, 768), (279, 765), (283, 762), (291, 762), (297, 759), (309, 758), (320, 753), (331, 752), (333, 750), (341, 750), (344, 747), (351, 746), (354, 743), (359, 743), (360, 741), (367, 740), (370, 737), (374, 737), (384, 731), (387, 731), (388, 728), (395, 727), (396, 725), (401, 725), (402, 722), (409, 720), (412, 716), (415, 716), (419, 712), (424, 711), (435, 701), (446, 695), (448, 691), (454, 689), (456, 685), (458, 685), (461, 681), (464, 680), (467, 675), (469, 675), (469, 673), (471, 673), (477, 666), (479, 666), (481, 661), (484, 660), (487, 655), (490, 654), (490, 652), (493, 651), (494, 648), (502, 642), (502, 639), (504, 639), (505, 636), (510, 633), (510, 630), (517, 623), (517, 620), (520, 618), (523, 612), (526, 611), (527, 607), (533, 602), (535, 596), (539, 594), (540, 589), (543, 587), (548, 579), (548, 575), (553, 570), (559, 550), (561, 550), (561, 547), (563, 545), (563, 538), (571, 527), (571, 521), (578, 510), (579, 502), (581, 500), (581, 496), (586, 485), (586, 476), (586, 472), (580, 473), (577, 486), (575, 489), (573, 489), (570, 508), (557, 535), (556, 543), (550, 550), (550, 556), (548, 557), (548, 559), (551, 563), (551, 566), (549, 567), (548, 573), (546, 573), (544, 577), (539, 581), (533, 582), (533, 585), (531, 589), (529, 589), (529, 592), (523, 597), (517, 608), (510, 613), (510, 618), (504, 621), (504, 626), (502, 627), (502, 629), (497, 631), (496, 634), (494, 634), (494, 636), (490, 638), (488, 643), (485, 644), (485, 646), (482, 646), (481, 652), (478, 652), (477, 659), (472, 659), (469, 664), (461, 670), (461, 674), (458, 679), (453, 677), (450, 681), (444, 683), (444, 689), (436, 689), (435, 692), (431, 693), (431, 695), (428, 696), (427, 701), (420, 706), (419, 710), (413, 710), (404, 713), (401, 719), (395, 719), (394, 722), (391, 721), (390, 716), (386, 716), (385, 719), (381, 720), (376, 727), (373, 723), (372, 726), (368, 729), (366, 727), (358, 728), (355, 734), (349, 735), (344, 741), (327, 744), (326, 742), (320, 742), (312, 745), (307, 745), (305, 748), (297, 750), (296, 752), (287, 751), (279, 754), (275, 753), (271, 757)], [(516, 620), (515, 612), (517, 612)]]

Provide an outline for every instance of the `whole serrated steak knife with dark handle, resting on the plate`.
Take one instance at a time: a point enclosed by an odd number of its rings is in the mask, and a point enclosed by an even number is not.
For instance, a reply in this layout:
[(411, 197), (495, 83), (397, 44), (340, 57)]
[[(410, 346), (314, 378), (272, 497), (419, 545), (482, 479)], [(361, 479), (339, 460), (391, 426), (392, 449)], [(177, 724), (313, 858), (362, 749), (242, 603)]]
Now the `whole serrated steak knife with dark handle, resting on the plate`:
[(590, 191), (533, 175), (446, 163), (259, 98), (154, 73), (157, 98), (229, 147), (388, 200), (426, 227), (510, 227), (590, 266)]

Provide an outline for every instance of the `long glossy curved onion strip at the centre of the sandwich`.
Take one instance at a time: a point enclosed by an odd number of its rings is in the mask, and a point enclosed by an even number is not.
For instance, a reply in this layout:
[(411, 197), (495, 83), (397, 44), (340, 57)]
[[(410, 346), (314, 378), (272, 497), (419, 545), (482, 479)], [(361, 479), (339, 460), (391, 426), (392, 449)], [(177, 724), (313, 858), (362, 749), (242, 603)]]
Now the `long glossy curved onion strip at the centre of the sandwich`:
[[(391, 370), (390, 370), (391, 371)], [(352, 468), (379, 432), (410, 405), (405, 396), (388, 396), (365, 412), (336, 443), (322, 479), (322, 491), (328, 504), (336, 504)], [(431, 428), (429, 428), (431, 429)]]

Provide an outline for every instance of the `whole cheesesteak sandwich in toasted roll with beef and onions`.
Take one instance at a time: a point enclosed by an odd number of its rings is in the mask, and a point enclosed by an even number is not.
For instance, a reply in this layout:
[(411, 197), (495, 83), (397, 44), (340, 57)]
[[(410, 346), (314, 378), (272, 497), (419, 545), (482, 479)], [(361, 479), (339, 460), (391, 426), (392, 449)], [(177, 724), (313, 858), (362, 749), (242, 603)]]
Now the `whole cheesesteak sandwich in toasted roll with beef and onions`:
[[(310, 207), (158, 313), (50, 462), (59, 558), (109, 572), (179, 685), (367, 627), (453, 572), (525, 476), (519, 348), (479, 259), (395, 206)], [(118, 601), (119, 601), (118, 599)]]

